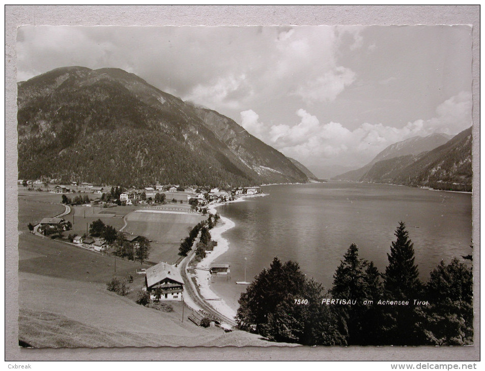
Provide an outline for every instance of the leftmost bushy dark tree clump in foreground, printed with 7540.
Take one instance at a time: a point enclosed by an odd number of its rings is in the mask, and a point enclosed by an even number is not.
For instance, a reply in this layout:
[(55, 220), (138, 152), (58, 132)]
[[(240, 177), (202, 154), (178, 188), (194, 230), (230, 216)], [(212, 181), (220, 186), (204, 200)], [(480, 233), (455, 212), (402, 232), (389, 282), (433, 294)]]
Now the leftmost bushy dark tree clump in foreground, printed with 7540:
[(236, 321), (240, 328), (277, 342), (345, 345), (322, 286), (307, 280), (298, 263), (274, 258), (241, 294)]

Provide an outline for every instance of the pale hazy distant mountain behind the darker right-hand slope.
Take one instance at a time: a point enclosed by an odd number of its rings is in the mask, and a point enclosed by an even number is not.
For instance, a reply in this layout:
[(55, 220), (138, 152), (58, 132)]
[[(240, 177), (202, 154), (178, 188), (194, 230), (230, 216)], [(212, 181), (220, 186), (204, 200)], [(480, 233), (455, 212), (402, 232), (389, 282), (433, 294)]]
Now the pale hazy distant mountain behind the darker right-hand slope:
[(445, 144), (452, 137), (452, 135), (439, 133), (431, 134), (427, 137), (412, 137), (401, 142), (391, 144), (383, 151), (379, 152), (377, 156), (367, 165), (359, 169), (337, 175), (333, 179), (359, 181), (360, 178), (362, 178), (362, 176), (364, 176), (372, 168), (372, 166), (379, 161), (408, 155), (417, 156), (419, 153), (432, 150), (442, 144)]

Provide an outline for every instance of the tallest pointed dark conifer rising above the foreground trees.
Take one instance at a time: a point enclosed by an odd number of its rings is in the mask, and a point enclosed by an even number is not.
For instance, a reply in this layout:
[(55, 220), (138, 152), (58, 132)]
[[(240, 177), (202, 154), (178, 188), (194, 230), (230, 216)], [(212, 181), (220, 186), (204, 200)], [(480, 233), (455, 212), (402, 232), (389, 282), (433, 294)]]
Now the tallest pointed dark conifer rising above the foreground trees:
[(413, 243), (409, 239), (404, 222), (399, 222), (387, 254), (389, 265), (384, 276), (384, 288), (395, 299), (414, 298), (421, 290), (418, 266), (414, 264)]

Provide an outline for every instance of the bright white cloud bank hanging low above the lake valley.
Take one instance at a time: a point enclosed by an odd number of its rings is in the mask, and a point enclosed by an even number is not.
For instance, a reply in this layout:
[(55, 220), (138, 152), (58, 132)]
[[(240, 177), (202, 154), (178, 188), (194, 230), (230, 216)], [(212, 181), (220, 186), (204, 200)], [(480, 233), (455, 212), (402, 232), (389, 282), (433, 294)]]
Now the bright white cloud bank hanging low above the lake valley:
[(312, 169), (322, 165), (361, 166), (390, 144), (432, 133), (457, 134), (471, 126), (471, 94), (461, 92), (436, 109), (436, 117), (408, 122), (402, 128), (362, 123), (349, 130), (338, 122), (322, 123), (304, 109), (294, 126), (265, 125), (254, 111), (241, 112), (242, 126), (251, 134)]

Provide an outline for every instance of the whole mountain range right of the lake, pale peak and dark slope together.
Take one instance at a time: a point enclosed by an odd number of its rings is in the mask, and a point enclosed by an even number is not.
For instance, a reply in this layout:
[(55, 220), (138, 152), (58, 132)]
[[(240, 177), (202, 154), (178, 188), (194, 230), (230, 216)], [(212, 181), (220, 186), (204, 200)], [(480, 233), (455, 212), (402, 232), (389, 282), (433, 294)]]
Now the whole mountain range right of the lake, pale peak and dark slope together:
[[(433, 134), (395, 143), (366, 166), (335, 178), (471, 191), (471, 127), (448, 139), (444, 134)], [(436, 146), (442, 141), (443, 144)], [(427, 146), (433, 148), (423, 150)]]

